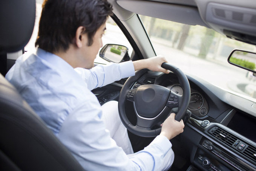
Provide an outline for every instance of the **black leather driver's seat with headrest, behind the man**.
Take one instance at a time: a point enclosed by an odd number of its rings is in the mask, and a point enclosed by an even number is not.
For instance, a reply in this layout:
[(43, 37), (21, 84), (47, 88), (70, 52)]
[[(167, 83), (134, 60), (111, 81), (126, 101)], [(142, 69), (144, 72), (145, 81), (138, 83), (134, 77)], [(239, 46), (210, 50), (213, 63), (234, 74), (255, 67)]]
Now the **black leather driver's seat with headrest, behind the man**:
[[(22, 49), (31, 37), (34, 21), (35, 0), (0, 1), (0, 53)], [(83, 170), (1, 74), (0, 170)]]

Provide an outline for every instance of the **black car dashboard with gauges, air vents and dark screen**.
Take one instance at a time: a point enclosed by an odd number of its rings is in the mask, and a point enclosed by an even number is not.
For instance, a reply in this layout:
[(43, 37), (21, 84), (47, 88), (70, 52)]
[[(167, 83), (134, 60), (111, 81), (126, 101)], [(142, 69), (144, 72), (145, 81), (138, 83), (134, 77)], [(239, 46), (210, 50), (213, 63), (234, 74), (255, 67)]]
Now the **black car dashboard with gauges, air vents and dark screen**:
[[(256, 171), (256, 117), (239, 107), (244, 102), (237, 100), (238, 96), (198, 78), (187, 78), (191, 88), (188, 110), (192, 115), (181, 135), (187, 146), (183, 153), (190, 151), (190, 161), (200, 170)], [(158, 84), (178, 95), (183, 93), (173, 73), (148, 72), (132, 88), (143, 84)], [(222, 97), (227, 95), (229, 100)]]

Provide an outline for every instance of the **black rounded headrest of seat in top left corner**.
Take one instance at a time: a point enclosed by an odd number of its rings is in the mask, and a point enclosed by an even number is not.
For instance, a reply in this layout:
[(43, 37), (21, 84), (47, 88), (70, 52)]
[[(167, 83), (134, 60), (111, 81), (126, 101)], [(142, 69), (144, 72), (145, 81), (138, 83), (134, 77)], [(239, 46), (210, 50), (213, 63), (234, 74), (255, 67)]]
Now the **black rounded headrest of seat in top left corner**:
[(35, 24), (35, 0), (0, 1), (0, 52), (26, 46)]

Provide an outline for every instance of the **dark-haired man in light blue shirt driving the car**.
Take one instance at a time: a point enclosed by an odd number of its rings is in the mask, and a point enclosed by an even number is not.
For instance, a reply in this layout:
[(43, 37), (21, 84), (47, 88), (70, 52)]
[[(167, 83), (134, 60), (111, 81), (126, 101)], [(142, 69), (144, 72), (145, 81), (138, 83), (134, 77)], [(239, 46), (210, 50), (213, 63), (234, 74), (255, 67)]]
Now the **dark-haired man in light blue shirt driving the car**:
[(169, 140), (183, 131), (183, 122), (171, 114), (161, 134), (131, 154), (126, 128), (115, 112), (117, 103), (101, 108), (90, 92), (143, 68), (168, 73), (161, 68), (163, 57), (94, 67), (111, 14), (106, 0), (46, 0), (36, 54), (18, 58), (6, 78), (84, 169), (166, 170), (174, 158)]

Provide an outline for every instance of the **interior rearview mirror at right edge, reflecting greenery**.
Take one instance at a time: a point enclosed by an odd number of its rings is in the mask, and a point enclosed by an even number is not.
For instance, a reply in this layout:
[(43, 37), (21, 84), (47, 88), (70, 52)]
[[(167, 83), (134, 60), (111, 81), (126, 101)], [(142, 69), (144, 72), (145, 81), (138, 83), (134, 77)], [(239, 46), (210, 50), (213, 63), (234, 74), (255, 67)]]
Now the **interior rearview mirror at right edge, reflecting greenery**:
[(235, 49), (228, 57), (228, 63), (256, 73), (256, 53)]

